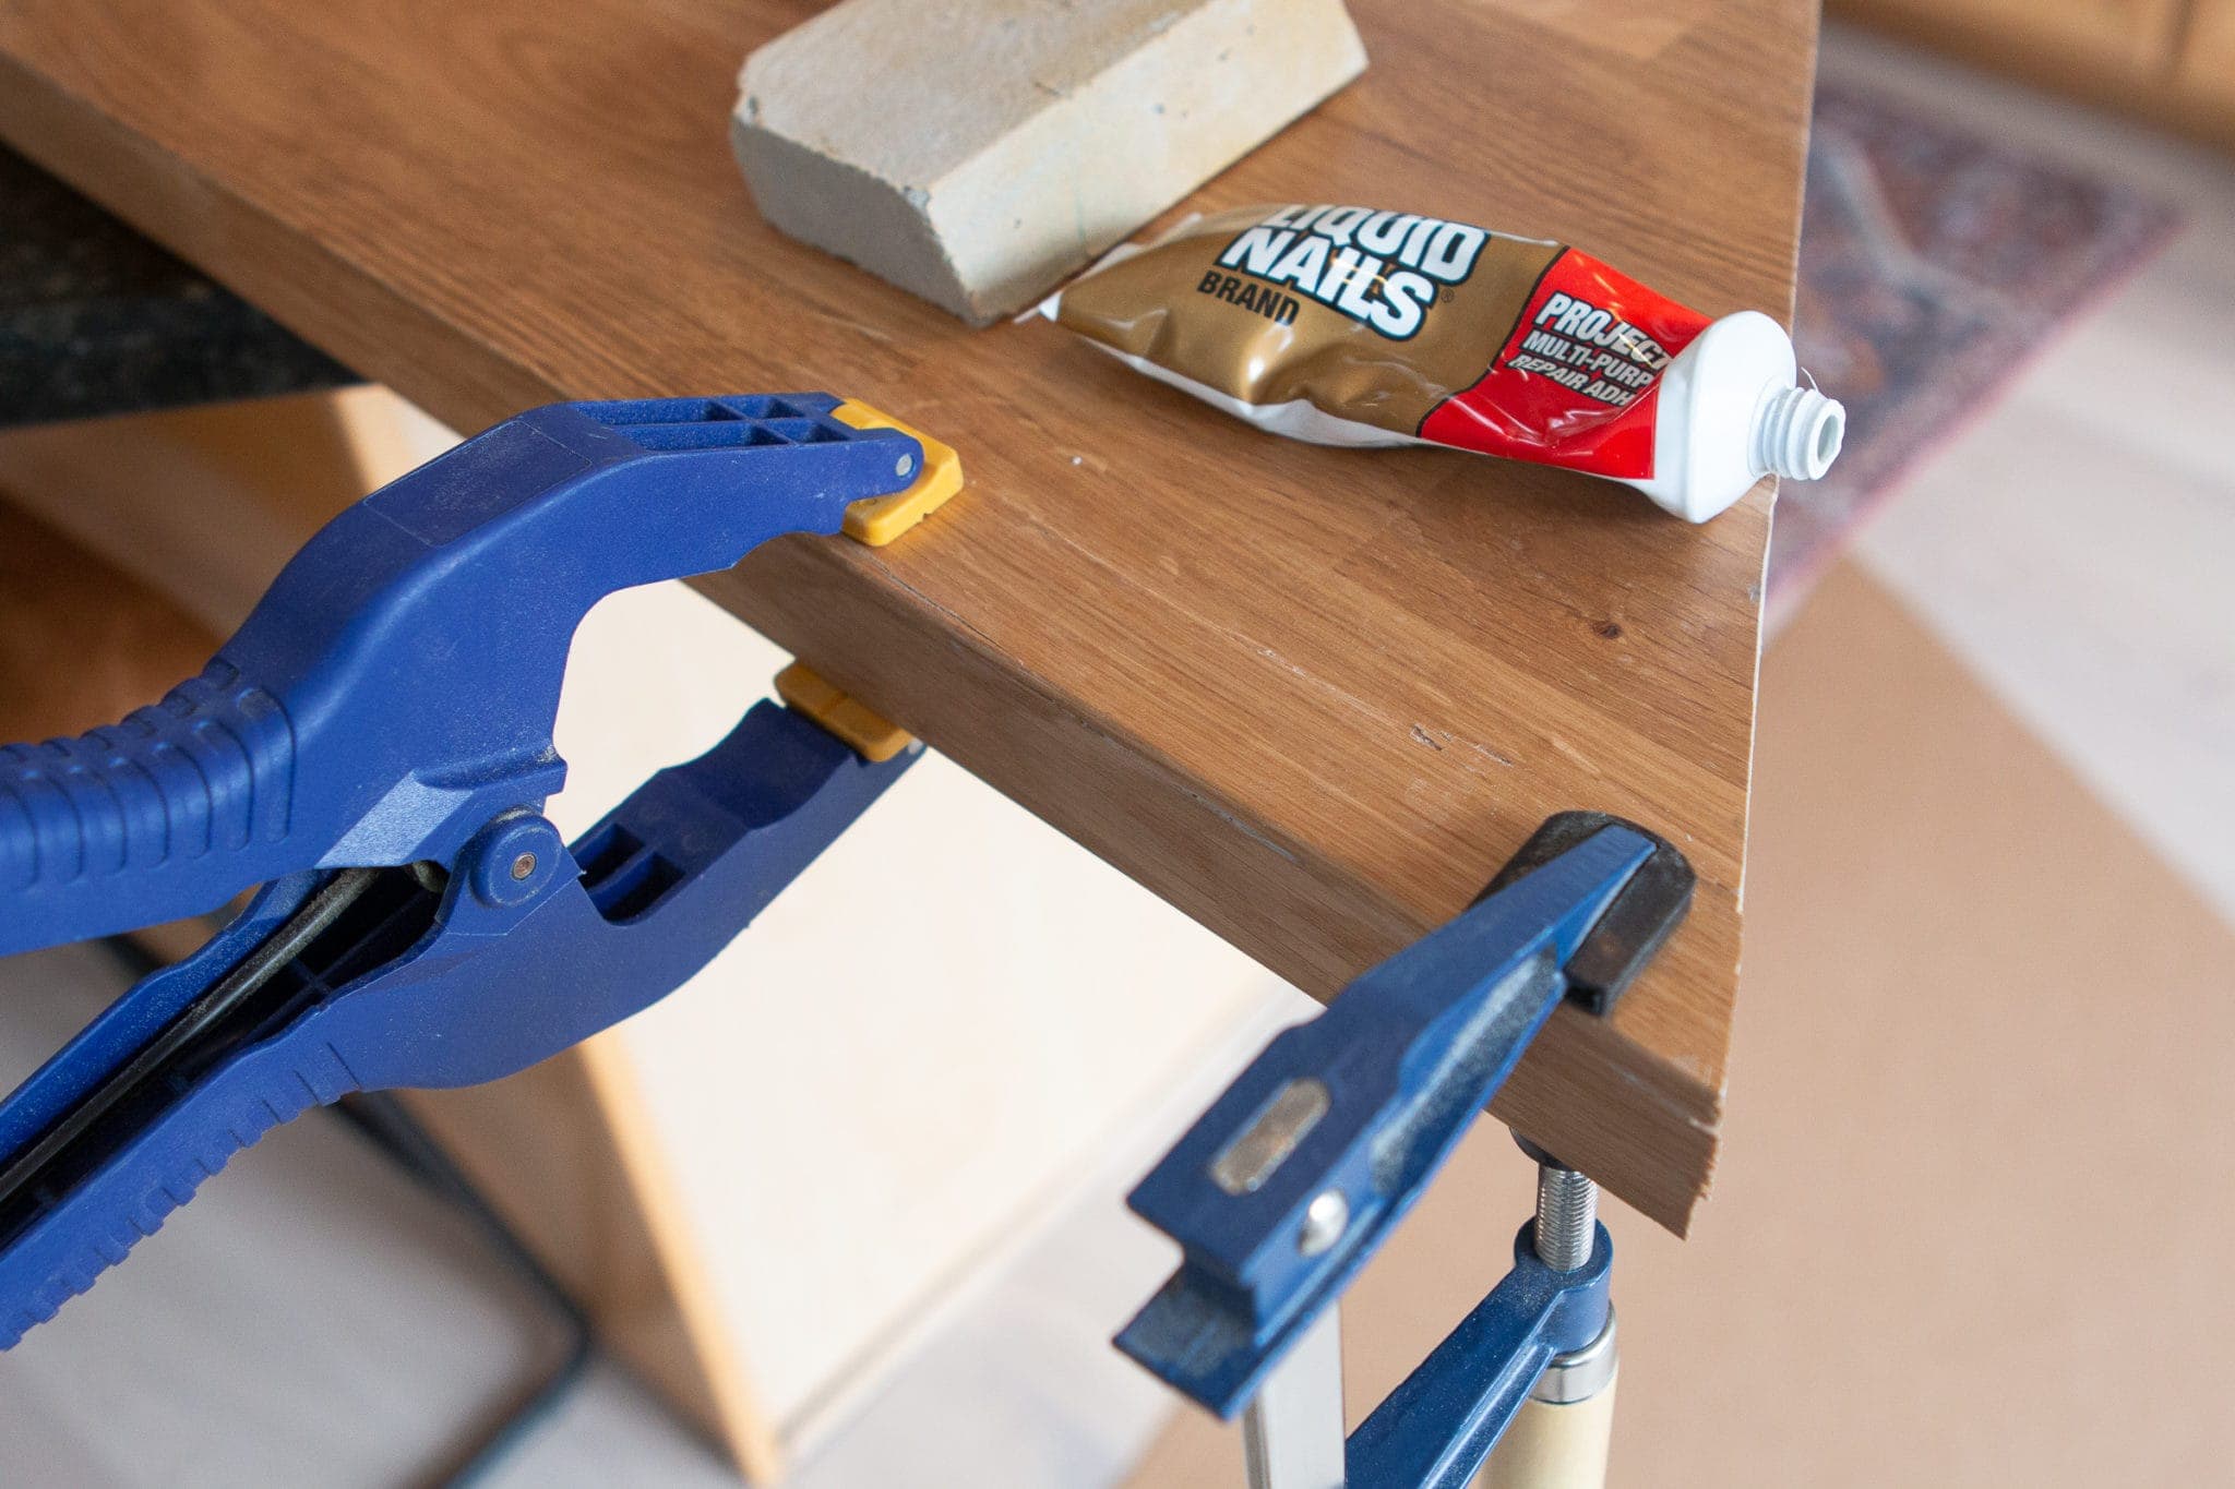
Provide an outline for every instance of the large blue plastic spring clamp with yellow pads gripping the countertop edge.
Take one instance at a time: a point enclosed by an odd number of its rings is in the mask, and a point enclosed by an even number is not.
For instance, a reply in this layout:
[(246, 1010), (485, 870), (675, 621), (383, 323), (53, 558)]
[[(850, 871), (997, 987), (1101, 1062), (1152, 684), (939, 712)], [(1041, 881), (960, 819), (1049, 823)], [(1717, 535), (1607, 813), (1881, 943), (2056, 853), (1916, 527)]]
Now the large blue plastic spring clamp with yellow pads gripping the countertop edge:
[(570, 846), (568, 645), (606, 594), (959, 482), (930, 451), (822, 393), (534, 409), (320, 529), (159, 705), (0, 748), (0, 955), (261, 886), (0, 1103), (0, 1348), (273, 1125), (559, 1054), (807, 868), (921, 746), (755, 703)]

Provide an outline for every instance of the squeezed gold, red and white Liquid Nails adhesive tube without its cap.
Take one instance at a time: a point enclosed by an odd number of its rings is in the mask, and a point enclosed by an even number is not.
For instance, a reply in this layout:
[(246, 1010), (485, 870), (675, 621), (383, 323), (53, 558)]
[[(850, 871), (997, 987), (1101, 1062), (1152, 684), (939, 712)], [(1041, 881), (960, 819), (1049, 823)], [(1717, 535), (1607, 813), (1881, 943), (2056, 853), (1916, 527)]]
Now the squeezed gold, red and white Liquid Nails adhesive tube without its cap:
[(1708, 319), (1564, 243), (1417, 212), (1198, 217), (1039, 313), (1292, 440), (1556, 464), (1690, 522), (1824, 475), (1846, 429), (1768, 315)]

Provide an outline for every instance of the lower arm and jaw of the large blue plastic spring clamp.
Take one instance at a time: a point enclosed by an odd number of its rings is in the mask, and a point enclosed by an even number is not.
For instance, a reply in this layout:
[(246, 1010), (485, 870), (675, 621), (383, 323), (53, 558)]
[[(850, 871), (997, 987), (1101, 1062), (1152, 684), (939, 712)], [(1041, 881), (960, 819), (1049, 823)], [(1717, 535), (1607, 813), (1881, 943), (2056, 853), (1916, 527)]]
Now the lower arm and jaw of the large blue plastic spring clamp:
[[(266, 886), (0, 1103), (0, 1351), (302, 1109), (496, 1080), (659, 1000), (919, 757), (907, 746), (872, 761), (807, 714), (755, 703), (722, 743), (653, 775), (572, 846), (516, 813), (476, 835), (440, 888), (402, 868)], [(371, 884), (317, 915), (344, 880)], [(297, 924), (306, 933), (288, 938)], [(286, 955), (239, 1011), (56, 1136), (136, 1047), (273, 938)]]

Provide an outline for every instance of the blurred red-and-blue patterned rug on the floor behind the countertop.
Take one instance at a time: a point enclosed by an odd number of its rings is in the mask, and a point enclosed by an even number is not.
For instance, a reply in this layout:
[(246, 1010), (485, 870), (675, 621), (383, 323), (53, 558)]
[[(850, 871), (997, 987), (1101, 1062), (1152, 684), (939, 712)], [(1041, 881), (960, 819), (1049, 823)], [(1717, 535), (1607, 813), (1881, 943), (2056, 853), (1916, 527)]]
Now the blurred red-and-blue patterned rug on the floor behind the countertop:
[(1777, 496), (1772, 614), (2177, 225), (2170, 203), (2119, 181), (1826, 83), (1792, 335), (1801, 366), (1846, 404), (1848, 435), (1830, 475)]

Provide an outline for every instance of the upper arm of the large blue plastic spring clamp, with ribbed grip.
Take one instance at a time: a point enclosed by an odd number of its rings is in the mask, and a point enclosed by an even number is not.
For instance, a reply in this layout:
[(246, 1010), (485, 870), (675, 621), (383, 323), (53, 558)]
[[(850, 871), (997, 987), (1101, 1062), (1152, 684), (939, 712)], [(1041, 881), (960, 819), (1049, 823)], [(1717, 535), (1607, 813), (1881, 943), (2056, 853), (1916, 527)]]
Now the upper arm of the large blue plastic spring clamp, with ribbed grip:
[[(0, 748), (0, 955), (217, 909), (320, 866), (449, 859), (565, 779), (552, 721), (615, 589), (836, 534), (925, 444), (827, 393), (550, 404), (317, 531), (201, 676)], [(849, 413), (858, 406), (845, 406)]]

